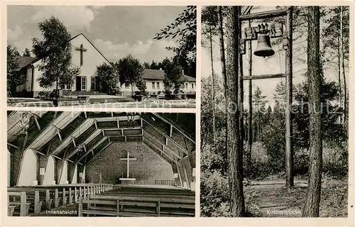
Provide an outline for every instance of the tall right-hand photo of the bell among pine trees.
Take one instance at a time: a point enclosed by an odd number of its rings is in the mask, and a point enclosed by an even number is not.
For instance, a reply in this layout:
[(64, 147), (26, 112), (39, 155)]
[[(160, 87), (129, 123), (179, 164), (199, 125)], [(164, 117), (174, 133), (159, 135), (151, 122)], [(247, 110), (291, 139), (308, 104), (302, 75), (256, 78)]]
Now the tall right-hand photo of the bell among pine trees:
[(202, 6), (202, 217), (354, 213), (349, 18), (349, 5)]

